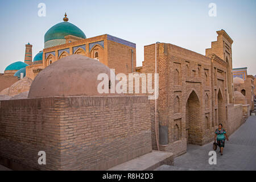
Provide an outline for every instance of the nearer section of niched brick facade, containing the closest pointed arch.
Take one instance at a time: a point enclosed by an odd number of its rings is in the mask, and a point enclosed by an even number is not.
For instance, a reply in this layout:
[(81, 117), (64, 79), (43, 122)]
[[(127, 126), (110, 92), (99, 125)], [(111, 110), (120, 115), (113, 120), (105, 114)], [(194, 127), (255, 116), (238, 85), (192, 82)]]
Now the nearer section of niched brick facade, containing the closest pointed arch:
[[(212, 122), (211, 61), (209, 57), (172, 44), (160, 43), (156, 51), (159, 73), (157, 105), (159, 130), (157, 131), (160, 150), (180, 155), (187, 150), (187, 142), (194, 144), (205, 142), (205, 114), (209, 122)], [(141, 72), (155, 72), (155, 44), (144, 47)], [(207, 72), (207, 80), (205, 72)], [(205, 93), (208, 93), (208, 106), (205, 106)], [(155, 115), (154, 104), (155, 102), (151, 104), (152, 116)], [(151, 117), (151, 126), (152, 147), (155, 149), (155, 117)], [(188, 134), (193, 137), (189, 138)]]

